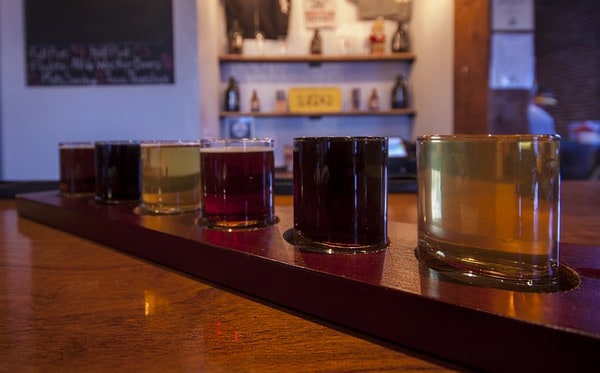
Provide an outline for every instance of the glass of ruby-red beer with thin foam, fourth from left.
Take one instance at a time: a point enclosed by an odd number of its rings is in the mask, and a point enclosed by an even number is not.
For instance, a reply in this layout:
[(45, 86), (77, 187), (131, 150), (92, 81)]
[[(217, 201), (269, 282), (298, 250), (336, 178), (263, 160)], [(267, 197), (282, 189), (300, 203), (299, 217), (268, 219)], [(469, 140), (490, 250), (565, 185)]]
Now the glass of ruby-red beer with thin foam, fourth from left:
[(201, 216), (207, 228), (275, 223), (273, 139), (200, 140)]

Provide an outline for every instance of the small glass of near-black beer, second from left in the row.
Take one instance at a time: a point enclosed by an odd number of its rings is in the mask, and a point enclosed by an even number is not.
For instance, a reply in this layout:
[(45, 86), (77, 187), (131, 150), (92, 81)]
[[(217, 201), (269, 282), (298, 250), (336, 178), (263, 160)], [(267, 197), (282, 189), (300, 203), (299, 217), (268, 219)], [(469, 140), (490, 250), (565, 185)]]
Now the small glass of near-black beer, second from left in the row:
[(94, 143), (96, 202), (134, 203), (140, 199), (139, 141)]

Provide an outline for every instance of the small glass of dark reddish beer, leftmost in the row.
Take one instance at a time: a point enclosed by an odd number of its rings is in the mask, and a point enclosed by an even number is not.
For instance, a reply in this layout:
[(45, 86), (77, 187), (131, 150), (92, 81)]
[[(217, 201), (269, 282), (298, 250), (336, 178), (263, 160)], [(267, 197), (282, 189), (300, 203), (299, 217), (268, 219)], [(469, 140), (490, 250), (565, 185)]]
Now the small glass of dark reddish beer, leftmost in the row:
[(68, 197), (91, 197), (96, 190), (94, 143), (91, 141), (61, 142), (60, 192)]

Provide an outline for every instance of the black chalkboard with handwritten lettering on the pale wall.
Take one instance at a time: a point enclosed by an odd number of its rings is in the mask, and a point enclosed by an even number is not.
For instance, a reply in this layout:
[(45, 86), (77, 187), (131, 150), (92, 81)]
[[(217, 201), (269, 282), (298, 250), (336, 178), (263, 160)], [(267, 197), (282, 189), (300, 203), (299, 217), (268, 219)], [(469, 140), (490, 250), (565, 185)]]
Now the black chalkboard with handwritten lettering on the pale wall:
[(29, 86), (172, 84), (172, 0), (25, 0)]

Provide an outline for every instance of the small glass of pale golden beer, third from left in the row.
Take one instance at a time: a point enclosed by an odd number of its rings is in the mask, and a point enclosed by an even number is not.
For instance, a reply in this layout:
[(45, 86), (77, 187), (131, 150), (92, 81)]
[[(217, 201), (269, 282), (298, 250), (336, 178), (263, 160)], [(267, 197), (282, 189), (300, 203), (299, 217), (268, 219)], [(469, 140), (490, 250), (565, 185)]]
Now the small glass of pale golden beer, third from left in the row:
[(177, 214), (200, 208), (200, 142), (142, 142), (141, 162), (142, 209)]

